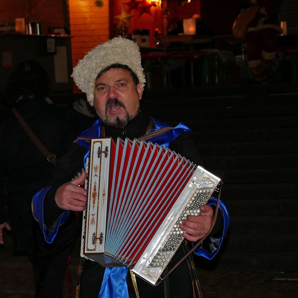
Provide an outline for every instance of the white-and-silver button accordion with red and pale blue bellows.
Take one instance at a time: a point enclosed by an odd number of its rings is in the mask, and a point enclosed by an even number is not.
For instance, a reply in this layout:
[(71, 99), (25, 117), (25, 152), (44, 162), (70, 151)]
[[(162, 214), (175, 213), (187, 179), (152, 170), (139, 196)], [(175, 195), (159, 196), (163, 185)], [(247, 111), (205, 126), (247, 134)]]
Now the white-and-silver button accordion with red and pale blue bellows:
[(218, 192), (220, 179), (151, 142), (92, 139), (81, 256), (127, 266), (155, 285), (183, 242), (178, 225)]

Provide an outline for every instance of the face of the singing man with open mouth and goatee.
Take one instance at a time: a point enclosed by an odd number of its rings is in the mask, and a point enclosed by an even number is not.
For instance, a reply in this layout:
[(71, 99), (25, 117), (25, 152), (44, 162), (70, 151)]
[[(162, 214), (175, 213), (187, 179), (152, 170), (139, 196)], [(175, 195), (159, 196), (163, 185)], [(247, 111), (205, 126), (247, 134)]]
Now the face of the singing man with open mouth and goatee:
[(139, 113), (142, 84), (134, 85), (128, 70), (111, 68), (97, 78), (94, 89), (94, 105), (103, 123), (125, 127)]

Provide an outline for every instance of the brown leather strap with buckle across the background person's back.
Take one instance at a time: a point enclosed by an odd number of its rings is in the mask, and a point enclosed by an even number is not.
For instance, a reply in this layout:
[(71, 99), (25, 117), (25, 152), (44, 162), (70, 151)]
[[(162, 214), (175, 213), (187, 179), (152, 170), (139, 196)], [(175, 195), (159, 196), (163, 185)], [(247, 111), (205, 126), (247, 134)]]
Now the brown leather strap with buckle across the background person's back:
[(24, 131), (29, 136), (29, 138), (34, 143), (34, 145), (41, 151), (41, 153), (46, 157), (46, 159), (55, 166), (56, 162), (57, 162), (55, 154), (51, 153), (44, 146), (44, 144), (41, 143), (41, 141), (38, 139), (36, 134), (32, 131), (30, 126), (27, 124), (25, 119), (20, 115), (20, 113), (15, 108), (12, 108), (11, 111), (13, 112), (15, 117), (18, 119), (18, 122), (20, 123), (21, 127), (24, 129)]

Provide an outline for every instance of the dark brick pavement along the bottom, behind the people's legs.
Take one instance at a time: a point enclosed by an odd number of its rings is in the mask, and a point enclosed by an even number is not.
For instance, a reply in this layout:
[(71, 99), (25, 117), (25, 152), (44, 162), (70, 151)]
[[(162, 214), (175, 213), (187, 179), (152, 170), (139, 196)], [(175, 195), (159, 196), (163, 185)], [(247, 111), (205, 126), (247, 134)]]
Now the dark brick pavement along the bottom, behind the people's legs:
[[(10, 235), (5, 233), (4, 237), (5, 246), (0, 248), (0, 297), (33, 298), (34, 285), (30, 263), (26, 256), (13, 256)], [(78, 255), (77, 245), (68, 266), (72, 277), (72, 292), (69, 292), (65, 283), (64, 298), (74, 297)], [(215, 268), (208, 271), (198, 269), (204, 298), (297, 298), (298, 273), (290, 274), (290, 277), (296, 280), (274, 280), (277, 274), (278, 271), (274, 270), (223, 271)]]

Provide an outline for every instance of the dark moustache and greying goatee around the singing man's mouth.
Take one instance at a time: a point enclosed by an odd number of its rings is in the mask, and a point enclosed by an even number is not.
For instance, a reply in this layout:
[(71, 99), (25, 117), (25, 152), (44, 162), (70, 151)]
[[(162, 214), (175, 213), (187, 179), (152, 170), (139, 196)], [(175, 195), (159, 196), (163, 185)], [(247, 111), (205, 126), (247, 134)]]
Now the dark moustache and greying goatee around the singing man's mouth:
[[(110, 118), (108, 118), (108, 107), (111, 105), (119, 105), (122, 108), (124, 108), (125, 110), (125, 116), (122, 118), (119, 118), (117, 116), (116, 119), (112, 120)], [(109, 98), (105, 104), (105, 119), (102, 119), (102, 117), (100, 117), (100, 114), (97, 112), (98, 117), (100, 118), (100, 120), (107, 126), (112, 126), (115, 128), (124, 128), (128, 122), (133, 119), (134, 117), (136, 117), (137, 114), (139, 114), (140, 111), (140, 104), (138, 104), (138, 107), (136, 109), (136, 112), (134, 115), (129, 114), (128, 111), (126, 110), (125, 105), (120, 102), (117, 98)]]

